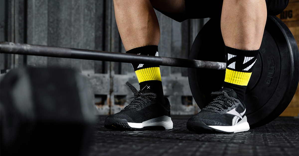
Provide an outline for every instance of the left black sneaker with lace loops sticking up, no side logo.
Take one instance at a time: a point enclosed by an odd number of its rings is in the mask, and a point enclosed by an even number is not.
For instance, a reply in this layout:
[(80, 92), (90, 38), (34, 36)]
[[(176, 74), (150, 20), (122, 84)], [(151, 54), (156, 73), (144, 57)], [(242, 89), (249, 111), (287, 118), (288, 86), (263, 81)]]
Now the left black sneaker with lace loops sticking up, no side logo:
[[(134, 100), (116, 114), (109, 115), (105, 120), (105, 127), (115, 130), (147, 130), (172, 129), (170, 118), (170, 103), (167, 98), (165, 104), (156, 100), (156, 94), (149, 92), (150, 86), (137, 91), (129, 82), (128, 87), (134, 93)], [(130, 99), (130, 98), (128, 98)]]

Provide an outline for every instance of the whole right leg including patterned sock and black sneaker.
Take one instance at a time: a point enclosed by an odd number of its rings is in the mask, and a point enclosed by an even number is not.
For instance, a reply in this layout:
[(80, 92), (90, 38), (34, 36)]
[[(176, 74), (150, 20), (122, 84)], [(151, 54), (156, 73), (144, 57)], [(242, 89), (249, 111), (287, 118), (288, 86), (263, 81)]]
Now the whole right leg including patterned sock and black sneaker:
[(257, 59), (266, 25), (265, 0), (224, 0), (221, 31), (226, 51), (223, 88), (216, 98), (187, 122), (195, 132), (236, 133), (249, 130), (245, 90)]

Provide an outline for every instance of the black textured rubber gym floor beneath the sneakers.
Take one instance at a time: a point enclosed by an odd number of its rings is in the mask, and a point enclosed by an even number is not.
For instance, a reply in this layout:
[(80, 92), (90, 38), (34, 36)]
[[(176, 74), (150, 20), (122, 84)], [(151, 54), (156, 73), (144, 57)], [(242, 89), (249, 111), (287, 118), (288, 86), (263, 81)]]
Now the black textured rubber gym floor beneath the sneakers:
[(173, 129), (114, 131), (98, 116), (89, 155), (299, 155), (298, 118), (277, 118), (247, 132), (198, 134), (186, 128), (191, 116), (172, 115)]

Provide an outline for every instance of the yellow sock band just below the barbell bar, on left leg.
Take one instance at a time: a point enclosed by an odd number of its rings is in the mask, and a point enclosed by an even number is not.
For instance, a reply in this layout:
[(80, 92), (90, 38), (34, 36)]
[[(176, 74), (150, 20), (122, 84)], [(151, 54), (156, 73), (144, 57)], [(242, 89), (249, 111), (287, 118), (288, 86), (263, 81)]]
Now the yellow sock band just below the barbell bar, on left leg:
[(150, 81), (158, 80), (161, 81), (160, 67), (144, 68), (135, 71), (138, 81)]

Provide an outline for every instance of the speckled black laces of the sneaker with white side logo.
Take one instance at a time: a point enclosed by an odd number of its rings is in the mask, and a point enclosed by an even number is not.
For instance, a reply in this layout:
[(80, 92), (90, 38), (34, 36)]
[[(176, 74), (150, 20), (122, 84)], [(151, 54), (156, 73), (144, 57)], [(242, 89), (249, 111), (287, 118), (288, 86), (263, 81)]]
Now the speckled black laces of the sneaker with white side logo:
[(213, 99), (213, 101), (202, 110), (211, 109), (212, 112), (220, 113), (221, 110), (224, 111), (224, 109), (228, 109), (228, 107), (233, 106), (234, 102), (239, 103), (239, 101), (236, 98), (229, 96), (225, 91), (212, 92), (211, 95), (219, 95), (219, 96)]

